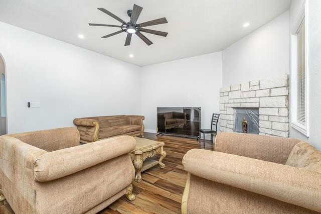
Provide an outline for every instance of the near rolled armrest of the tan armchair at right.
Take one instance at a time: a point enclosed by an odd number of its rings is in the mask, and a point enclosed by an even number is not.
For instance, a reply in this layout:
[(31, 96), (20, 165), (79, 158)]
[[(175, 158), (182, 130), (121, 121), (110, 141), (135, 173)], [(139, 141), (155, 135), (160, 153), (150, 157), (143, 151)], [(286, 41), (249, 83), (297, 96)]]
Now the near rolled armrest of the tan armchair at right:
[(318, 172), (201, 149), (188, 151), (183, 165), (196, 176), (321, 211)]

